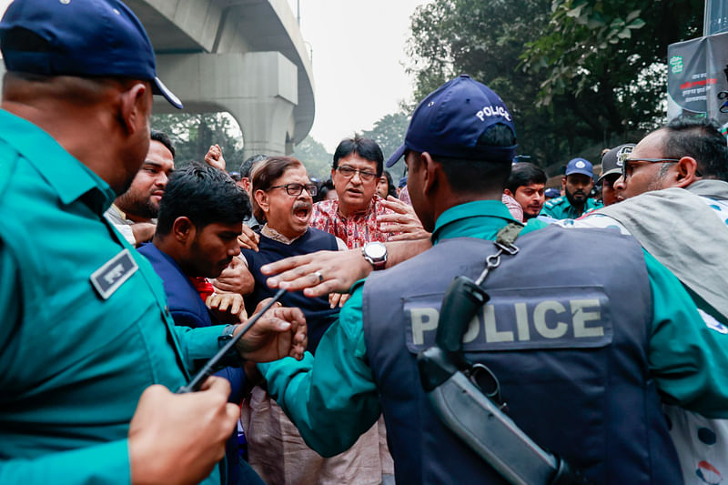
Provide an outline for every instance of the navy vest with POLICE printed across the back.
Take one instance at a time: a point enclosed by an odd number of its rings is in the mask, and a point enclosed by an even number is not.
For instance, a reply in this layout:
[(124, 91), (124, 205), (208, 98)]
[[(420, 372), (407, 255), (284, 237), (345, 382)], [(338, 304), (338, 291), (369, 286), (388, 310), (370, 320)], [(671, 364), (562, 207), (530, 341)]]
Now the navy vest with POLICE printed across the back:
[[(486, 279), (490, 301), (463, 337), (466, 356), (498, 377), (516, 424), (593, 483), (680, 483), (649, 372), (652, 293), (640, 246), (612, 230), (560, 227), (516, 246)], [(364, 285), (367, 355), (399, 484), (506, 483), (440, 422), (416, 363), (434, 344), (452, 279), (477, 278), (495, 252), (492, 241), (445, 240)]]

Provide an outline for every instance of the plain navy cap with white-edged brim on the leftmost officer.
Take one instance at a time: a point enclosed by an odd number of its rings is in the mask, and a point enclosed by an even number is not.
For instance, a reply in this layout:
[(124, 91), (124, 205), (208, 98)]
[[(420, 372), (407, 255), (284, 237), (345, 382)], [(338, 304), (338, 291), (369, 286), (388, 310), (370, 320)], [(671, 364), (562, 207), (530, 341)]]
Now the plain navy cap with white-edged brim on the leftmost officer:
[(141, 79), (182, 107), (157, 77), (144, 26), (118, 0), (15, 0), (0, 21), (0, 50), (8, 71)]

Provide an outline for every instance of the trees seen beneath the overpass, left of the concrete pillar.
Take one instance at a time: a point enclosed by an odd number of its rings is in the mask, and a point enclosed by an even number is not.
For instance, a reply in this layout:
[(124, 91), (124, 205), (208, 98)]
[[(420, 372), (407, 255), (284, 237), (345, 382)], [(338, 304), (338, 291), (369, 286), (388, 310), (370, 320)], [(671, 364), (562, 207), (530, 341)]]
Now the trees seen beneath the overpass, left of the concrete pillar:
[(211, 145), (222, 148), (228, 171), (243, 161), (243, 139), (232, 116), (226, 113), (153, 115), (152, 128), (165, 133), (175, 145), (175, 166), (203, 161)]

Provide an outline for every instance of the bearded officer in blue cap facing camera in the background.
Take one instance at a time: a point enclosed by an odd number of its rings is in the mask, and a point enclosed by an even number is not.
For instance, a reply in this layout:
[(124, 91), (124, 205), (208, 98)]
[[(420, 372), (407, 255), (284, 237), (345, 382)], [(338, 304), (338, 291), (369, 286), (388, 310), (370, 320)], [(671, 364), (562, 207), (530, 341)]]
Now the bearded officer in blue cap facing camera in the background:
[(602, 207), (598, 200), (589, 197), (589, 191), (594, 187), (594, 171), (589, 160), (572, 159), (566, 166), (564, 177), (561, 178), (561, 187), (565, 195), (546, 202), (541, 210), (541, 216), (575, 219), (585, 212)]

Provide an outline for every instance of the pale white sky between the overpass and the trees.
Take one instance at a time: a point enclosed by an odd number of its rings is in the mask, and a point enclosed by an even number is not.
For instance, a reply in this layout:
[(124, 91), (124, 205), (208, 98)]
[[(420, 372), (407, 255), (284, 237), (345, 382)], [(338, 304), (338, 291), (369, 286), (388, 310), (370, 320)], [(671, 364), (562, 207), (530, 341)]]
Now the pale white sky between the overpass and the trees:
[(410, 15), (428, 2), (288, 0), (294, 15), (297, 1), (301, 34), (313, 51), (316, 117), (309, 135), (333, 153), (341, 138), (371, 129), (410, 101)]

